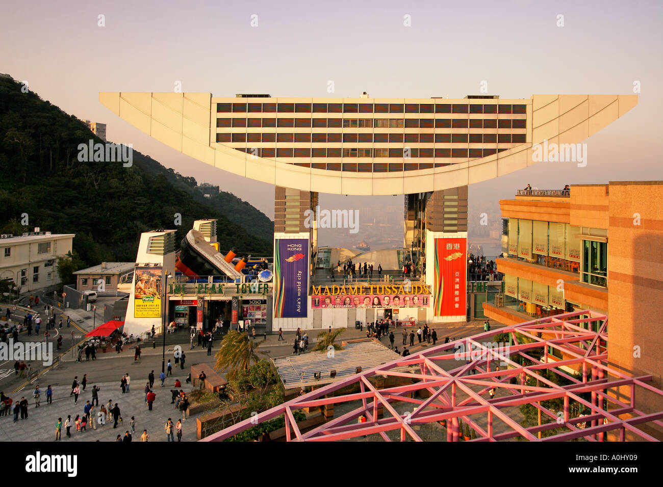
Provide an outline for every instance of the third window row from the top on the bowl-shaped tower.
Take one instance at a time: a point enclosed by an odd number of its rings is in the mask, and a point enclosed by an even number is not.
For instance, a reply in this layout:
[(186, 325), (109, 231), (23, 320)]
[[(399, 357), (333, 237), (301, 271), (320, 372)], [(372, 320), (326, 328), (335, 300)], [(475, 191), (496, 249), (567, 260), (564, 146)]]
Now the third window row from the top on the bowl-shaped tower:
[(310, 134), (310, 133), (225, 133), (217, 134), (223, 142), (395, 142), (452, 144), (522, 144), (525, 134)]

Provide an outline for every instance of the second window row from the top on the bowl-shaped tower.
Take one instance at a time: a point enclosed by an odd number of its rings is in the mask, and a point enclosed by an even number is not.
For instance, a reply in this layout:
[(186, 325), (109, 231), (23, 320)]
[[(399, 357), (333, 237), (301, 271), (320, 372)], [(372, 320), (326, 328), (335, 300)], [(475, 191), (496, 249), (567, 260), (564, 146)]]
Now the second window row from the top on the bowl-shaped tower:
[(526, 129), (512, 119), (216, 119), (217, 127), (331, 127), (405, 129)]

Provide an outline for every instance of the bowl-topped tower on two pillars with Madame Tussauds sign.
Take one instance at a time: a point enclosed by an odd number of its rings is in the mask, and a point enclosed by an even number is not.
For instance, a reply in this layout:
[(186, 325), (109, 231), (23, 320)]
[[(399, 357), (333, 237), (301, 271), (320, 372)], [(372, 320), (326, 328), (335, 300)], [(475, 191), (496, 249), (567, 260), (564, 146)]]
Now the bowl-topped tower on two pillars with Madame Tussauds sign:
[[(116, 92), (100, 93), (99, 101), (175, 150), (275, 186), (273, 303), (267, 304), (265, 323), (272, 331), (353, 326), (355, 320), (373, 321), (388, 313), (430, 323), (464, 320), (467, 186), (539, 162), (540, 144), (582, 142), (632, 109), (637, 97), (377, 99), (364, 93), (357, 98), (272, 98)], [(405, 195), (401, 250), (408, 250), (406, 260), (414, 263), (416, 277), (407, 282), (375, 274), (352, 282), (327, 282), (330, 276), (317, 280), (320, 272), (314, 270), (322, 245), (316, 223), (311, 225), (307, 215), (315, 211), (321, 192)], [(326, 274), (337, 260), (328, 259)], [(355, 260), (365, 261), (361, 256)], [(398, 269), (398, 254), (396, 260)], [(374, 262), (375, 269), (379, 263)], [(550, 272), (573, 275), (574, 270)], [(587, 276), (593, 279), (587, 286), (601, 278), (592, 272)], [(600, 290), (587, 293), (600, 301)]]

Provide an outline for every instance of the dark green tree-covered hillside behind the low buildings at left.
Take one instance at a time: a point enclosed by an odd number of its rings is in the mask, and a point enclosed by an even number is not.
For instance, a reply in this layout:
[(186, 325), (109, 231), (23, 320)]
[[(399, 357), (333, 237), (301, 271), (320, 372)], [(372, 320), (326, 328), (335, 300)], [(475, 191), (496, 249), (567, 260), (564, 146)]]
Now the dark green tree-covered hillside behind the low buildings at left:
[[(216, 218), (222, 251), (235, 246), (243, 254), (272, 254), (273, 224), (248, 203), (229, 193), (225, 200), (205, 198), (194, 189), (194, 178), (136, 150), (131, 167), (80, 162), (78, 146), (90, 140), (103, 143), (73, 115), (0, 78), (2, 233), (21, 235), (34, 227), (76, 233), (74, 251), (88, 266), (135, 260), (142, 232), (178, 229), (180, 241), (195, 219)], [(243, 225), (236, 223), (238, 212)]]

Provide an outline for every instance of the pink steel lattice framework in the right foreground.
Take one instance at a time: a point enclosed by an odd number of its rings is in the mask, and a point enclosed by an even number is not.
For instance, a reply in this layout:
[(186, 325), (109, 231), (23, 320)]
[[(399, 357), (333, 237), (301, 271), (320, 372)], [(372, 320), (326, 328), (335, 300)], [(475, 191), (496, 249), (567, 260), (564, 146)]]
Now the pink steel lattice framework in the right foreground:
[[(444, 345), (383, 364), (372, 370), (360, 372), (349, 378), (323, 386), (304, 396), (259, 413), (256, 417), (241, 421), (203, 439), (202, 441), (223, 441), (223, 439), (244, 431), (263, 421), (284, 415), (286, 439), (288, 441), (335, 441), (364, 435), (379, 434), (385, 441), (391, 439), (386, 431), (399, 430), (400, 441), (409, 436), (414, 441), (422, 441), (414, 426), (434, 421), (447, 421), (447, 441), (459, 441), (463, 434), (459, 431), (459, 419), (477, 433), (473, 441), (499, 441), (524, 437), (530, 441), (566, 441), (584, 438), (588, 441), (602, 441), (607, 431), (615, 431), (615, 439), (624, 441), (627, 431), (636, 439), (658, 441), (652, 435), (638, 429), (637, 425), (652, 423), (663, 427), (663, 412), (643, 413), (636, 409), (635, 388), (639, 386), (662, 398), (663, 391), (646, 382), (652, 376), (629, 377), (609, 368), (607, 361), (607, 316), (596, 311), (575, 311), (542, 319), (535, 319), (474, 335)], [(595, 324), (597, 331), (592, 331)], [(587, 329), (581, 325), (586, 325)], [(498, 333), (509, 333), (514, 345), (499, 346), (487, 342)], [(457, 349), (459, 344), (465, 347)], [(469, 345), (469, 346), (468, 346)], [(530, 356), (535, 349), (544, 350), (543, 356)], [(549, 355), (558, 351), (562, 359)], [(518, 358), (520, 357), (520, 358)], [(518, 360), (517, 362), (514, 359)], [(533, 365), (523, 366), (522, 359), (531, 360)], [(550, 361), (549, 361), (550, 359)], [(554, 361), (553, 361), (554, 360)], [(445, 364), (460, 362), (461, 365), (445, 370)], [(491, 362), (507, 364), (507, 368), (491, 370)], [(412, 373), (393, 370), (398, 366), (414, 366)], [(573, 368), (581, 372), (574, 376), (560, 367)], [(549, 380), (548, 374), (538, 371), (554, 371), (570, 381), (561, 386)], [(416, 373), (414, 372), (416, 371)], [(369, 378), (392, 376), (418, 380), (414, 384), (387, 387), (378, 390)], [(527, 384), (527, 378), (534, 378), (536, 386)], [(359, 392), (333, 396), (340, 389), (353, 384), (359, 385)], [(630, 387), (630, 398), (626, 404), (607, 394), (610, 388)], [(417, 391), (426, 390), (428, 398), (413, 398)], [(494, 398), (489, 398), (490, 392)], [(591, 393), (591, 400), (583, 400), (579, 394)], [(499, 396), (499, 397), (498, 397)], [(542, 401), (563, 398), (563, 411), (550, 411), (541, 405)], [(319, 407), (330, 404), (360, 402), (349, 413), (302, 433), (294, 420), (292, 411), (304, 407)], [(570, 402), (584, 407), (586, 415), (580, 415), (579, 408), (574, 417)], [(416, 406), (414, 412), (398, 413), (394, 404), (410, 403)], [(514, 419), (513, 411), (529, 404), (542, 415), (554, 421), (524, 427)], [(609, 406), (609, 407), (607, 407)], [(379, 418), (379, 408), (385, 415)], [(507, 411), (511, 409), (512, 415)], [(389, 413), (389, 414), (387, 414)], [(358, 423), (359, 415), (367, 419)], [(621, 419), (620, 415), (628, 415)], [(479, 418), (477, 418), (477, 416)], [(479, 424), (479, 419), (484, 426)], [(485, 419), (485, 421), (483, 421)], [(495, 420), (499, 421), (495, 421)], [(497, 427), (497, 428), (496, 428)], [(564, 432), (538, 438), (538, 433), (554, 428)], [(495, 431), (500, 429), (501, 431)]]

